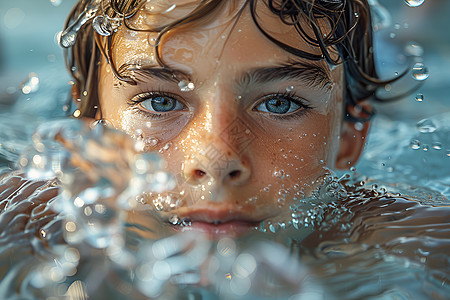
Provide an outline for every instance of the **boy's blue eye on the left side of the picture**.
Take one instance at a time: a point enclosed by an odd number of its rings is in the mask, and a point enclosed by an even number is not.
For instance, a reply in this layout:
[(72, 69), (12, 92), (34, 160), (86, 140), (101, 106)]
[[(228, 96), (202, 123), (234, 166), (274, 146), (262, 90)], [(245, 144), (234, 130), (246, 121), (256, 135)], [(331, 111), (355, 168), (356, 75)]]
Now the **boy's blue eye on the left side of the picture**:
[(131, 101), (133, 103), (139, 103), (142, 108), (155, 113), (183, 110), (186, 108), (186, 106), (174, 97), (161, 93), (142, 93), (134, 96)]

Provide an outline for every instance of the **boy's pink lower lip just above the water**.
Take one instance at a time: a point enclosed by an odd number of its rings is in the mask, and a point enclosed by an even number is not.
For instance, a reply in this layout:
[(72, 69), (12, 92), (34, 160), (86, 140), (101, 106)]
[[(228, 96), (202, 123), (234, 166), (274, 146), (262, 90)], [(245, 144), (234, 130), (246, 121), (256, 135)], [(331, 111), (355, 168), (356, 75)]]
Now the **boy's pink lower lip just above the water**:
[(222, 224), (212, 224), (206, 222), (192, 222), (191, 225), (185, 227), (178, 227), (177, 230), (184, 231), (196, 231), (201, 232), (209, 237), (238, 237), (245, 233), (248, 233), (252, 228), (255, 228), (255, 224), (248, 222), (232, 221)]

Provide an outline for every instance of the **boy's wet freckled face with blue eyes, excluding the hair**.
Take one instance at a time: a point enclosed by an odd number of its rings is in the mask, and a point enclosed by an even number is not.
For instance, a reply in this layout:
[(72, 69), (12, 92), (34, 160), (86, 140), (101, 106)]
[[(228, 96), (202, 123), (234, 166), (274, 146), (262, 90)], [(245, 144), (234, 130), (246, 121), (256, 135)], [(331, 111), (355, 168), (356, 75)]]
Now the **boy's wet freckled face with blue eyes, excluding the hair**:
[[(223, 230), (245, 230), (289, 211), (328, 168), (354, 162), (363, 144), (363, 133), (342, 121), (342, 65), (331, 70), (289, 54), (258, 30), (248, 7), (235, 23), (239, 8), (227, 1), (166, 33), (160, 57), (175, 72), (156, 62), (155, 34), (124, 26), (115, 34), (113, 59), (137, 85), (120, 82), (101, 64), (102, 117), (142, 139), (145, 151), (159, 151), (177, 176), (170, 195), (179, 201), (162, 216), (203, 229), (226, 223)], [(144, 28), (182, 13), (141, 11), (130, 23)], [(270, 35), (320, 54), (265, 7), (257, 14)], [(149, 203), (158, 206), (166, 195), (157, 196)]]

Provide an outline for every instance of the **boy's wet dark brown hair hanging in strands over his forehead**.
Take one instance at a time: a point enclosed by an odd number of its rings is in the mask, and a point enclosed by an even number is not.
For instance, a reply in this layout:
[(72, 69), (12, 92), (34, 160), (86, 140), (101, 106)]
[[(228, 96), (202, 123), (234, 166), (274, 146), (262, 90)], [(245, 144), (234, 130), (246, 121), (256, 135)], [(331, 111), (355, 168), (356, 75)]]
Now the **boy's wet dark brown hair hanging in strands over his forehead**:
[[(158, 45), (161, 37), (167, 31), (196, 22), (218, 9), (222, 0), (202, 0), (198, 7), (189, 15), (174, 21), (173, 23), (151, 28), (146, 31), (158, 32), (156, 41), (156, 56), (161, 65), (164, 65), (159, 56)], [(70, 12), (65, 27), (73, 22), (92, 0), (80, 0)], [(133, 15), (146, 1), (143, 0), (103, 0), (102, 9), (97, 15), (122, 18), (122, 26), (131, 28), (127, 18)], [(299, 38), (307, 43), (318, 47), (321, 55), (301, 51), (295, 47), (285, 44), (267, 33), (256, 14), (256, 4), (264, 2), (271, 12), (279, 16), (280, 20), (288, 25), (294, 26)], [(382, 81), (378, 78), (373, 54), (373, 30), (370, 15), (370, 7), (367, 0), (246, 0), (245, 6), (249, 6), (255, 24), (260, 31), (273, 43), (285, 51), (309, 60), (325, 60), (330, 65), (343, 64), (346, 80), (345, 105), (346, 118), (351, 121), (366, 121), (370, 119), (373, 112), (360, 107), (362, 113), (355, 115), (355, 111), (363, 100), (372, 99), (382, 101), (375, 95), (379, 87), (384, 87), (391, 81)], [(81, 116), (94, 117), (99, 106), (98, 100), (98, 71), (102, 55), (111, 64), (115, 76), (133, 84), (133, 79), (122, 76), (112, 60), (112, 39), (114, 33), (102, 37), (96, 33), (91, 24), (86, 22), (78, 32), (75, 44), (65, 52), (66, 65), (75, 79), (75, 88), (80, 95), (79, 110)], [(327, 24), (328, 32), (322, 32), (323, 26)], [(302, 27), (307, 24), (307, 29)], [(139, 29), (134, 29), (139, 30)], [(106, 39), (106, 43), (102, 40)], [(333, 59), (338, 53), (338, 58)], [(399, 76), (401, 77), (401, 76)], [(397, 77), (397, 79), (399, 78)]]

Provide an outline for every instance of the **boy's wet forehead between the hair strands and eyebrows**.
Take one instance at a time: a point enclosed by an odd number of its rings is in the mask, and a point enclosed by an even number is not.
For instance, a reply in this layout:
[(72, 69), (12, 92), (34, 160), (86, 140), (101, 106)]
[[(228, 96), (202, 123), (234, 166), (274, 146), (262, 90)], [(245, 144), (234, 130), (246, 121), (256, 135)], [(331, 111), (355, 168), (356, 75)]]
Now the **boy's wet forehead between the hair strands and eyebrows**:
[[(218, 4), (213, 9), (205, 10), (198, 19), (165, 32), (159, 43), (159, 56), (168, 66), (187, 73), (194, 72), (193, 67), (204, 67), (203, 64), (211, 62), (236, 63), (245, 68), (290, 59), (299, 60), (261, 33), (247, 2), (217, 1)], [(256, 3), (255, 16), (267, 34), (296, 49), (320, 54), (317, 47), (306, 43), (299, 36), (294, 26), (284, 24), (262, 1)], [(117, 64), (143, 63), (158, 66), (155, 41), (159, 33), (152, 31), (182, 20), (199, 4), (200, 1), (188, 0), (147, 2), (128, 21), (138, 31), (122, 26), (115, 35), (113, 53)], [(302, 23), (302, 28), (308, 32), (310, 28), (306, 22)]]

